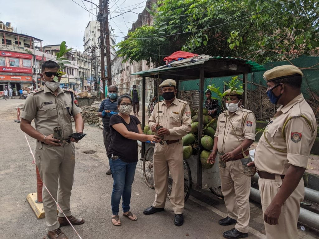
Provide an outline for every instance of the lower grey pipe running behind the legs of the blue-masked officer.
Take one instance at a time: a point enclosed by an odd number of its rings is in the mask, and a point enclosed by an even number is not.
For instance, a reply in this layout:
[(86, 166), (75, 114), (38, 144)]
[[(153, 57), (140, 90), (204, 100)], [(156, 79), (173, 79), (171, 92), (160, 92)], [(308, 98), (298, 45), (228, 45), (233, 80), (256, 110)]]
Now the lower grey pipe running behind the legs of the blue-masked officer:
[[(250, 188), (250, 199), (254, 200), (255, 202), (261, 203), (259, 190)], [(302, 224), (319, 230), (319, 214), (310, 212), (309, 210), (306, 210), (304, 208), (300, 208), (298, 221), (300, 221)]]

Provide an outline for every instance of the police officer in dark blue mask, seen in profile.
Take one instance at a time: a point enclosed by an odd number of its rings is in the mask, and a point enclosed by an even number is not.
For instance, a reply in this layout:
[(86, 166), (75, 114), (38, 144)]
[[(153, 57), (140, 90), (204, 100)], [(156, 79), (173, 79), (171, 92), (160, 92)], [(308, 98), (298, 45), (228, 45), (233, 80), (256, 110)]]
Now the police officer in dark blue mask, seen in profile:
[(302, 175), (317, 134), (315, 115), (300, 91), (300, 69), (278, 66), (267, 70), (263, 78), (271, 103), (281, 105), (255, 151), (266, 236), (297, 239), (304, 198)]

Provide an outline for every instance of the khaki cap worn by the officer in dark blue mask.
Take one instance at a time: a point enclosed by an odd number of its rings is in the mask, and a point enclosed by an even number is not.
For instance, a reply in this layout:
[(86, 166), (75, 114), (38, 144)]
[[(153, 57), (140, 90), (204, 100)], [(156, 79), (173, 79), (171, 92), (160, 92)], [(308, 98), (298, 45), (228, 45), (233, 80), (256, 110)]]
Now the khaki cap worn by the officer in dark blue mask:
[(263, 79), (267, 82), (300, 75), (303, 76), (301, 70), (293, 65), (283, 65), (283, 66), (276, 66), (270, 70), (265, 71), (263, 73)]

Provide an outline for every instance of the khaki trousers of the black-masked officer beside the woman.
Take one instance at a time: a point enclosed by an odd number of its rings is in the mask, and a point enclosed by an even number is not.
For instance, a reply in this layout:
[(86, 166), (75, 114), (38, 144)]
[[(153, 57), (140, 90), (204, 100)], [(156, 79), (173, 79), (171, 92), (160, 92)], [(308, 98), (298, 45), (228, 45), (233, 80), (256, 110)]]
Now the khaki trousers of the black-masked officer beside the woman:
[(167, 145), (155, 144), (154, 149), (154, 207), (165, 207), (167, 197), (168, 172), (173, 179), (171, 204), (175, 214), (182, 214), (184, 210), (184, 165), (183, 145), (180, 142)]

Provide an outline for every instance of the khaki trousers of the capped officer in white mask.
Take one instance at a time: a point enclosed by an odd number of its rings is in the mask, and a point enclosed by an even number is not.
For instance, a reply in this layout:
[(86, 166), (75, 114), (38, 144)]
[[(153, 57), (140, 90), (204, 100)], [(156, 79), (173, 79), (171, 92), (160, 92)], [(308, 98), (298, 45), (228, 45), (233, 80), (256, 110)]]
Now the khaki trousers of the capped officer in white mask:
[(240, 160), (227, 162), (226, 168), (219, 167), (219, 174), (227, 216), (237, 220), (235, 228), (238, 231), (247, 233), (250, 218), (250, 177), (244, 175)]

